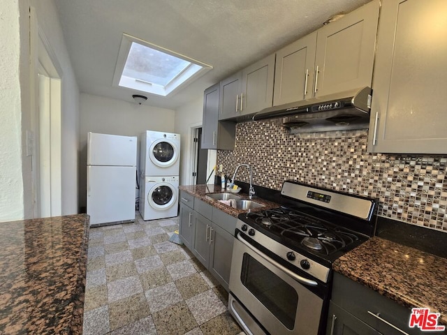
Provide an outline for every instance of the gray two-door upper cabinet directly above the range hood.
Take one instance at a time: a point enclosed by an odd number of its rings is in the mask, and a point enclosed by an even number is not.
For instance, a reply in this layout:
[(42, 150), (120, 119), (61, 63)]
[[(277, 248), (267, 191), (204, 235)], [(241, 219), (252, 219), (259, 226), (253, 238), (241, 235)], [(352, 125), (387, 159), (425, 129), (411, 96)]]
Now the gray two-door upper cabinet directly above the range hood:
[(277, 52), (273, 105), (371, 86), (379, 1)]

